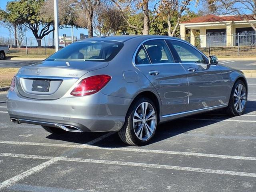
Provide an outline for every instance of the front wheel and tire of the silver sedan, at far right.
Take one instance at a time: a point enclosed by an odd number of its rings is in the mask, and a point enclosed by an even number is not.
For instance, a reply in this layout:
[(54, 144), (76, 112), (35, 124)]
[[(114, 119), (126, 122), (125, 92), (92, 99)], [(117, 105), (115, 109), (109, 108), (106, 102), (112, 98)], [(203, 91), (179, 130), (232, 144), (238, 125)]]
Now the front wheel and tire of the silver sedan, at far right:
[[(242, 86), (241, 92), (238, 91), (239, 86)], [(241, 103), (241, 105), (240, 105), (240, 103)], [(246, 85), (241, 80), (238, 80), (235, 82), (235, 84), (232, 88), (228, 107), (226, 108), (226, 113), (230, 116), (242, 115), (246, 108), (246, 103), (247, 103)]]

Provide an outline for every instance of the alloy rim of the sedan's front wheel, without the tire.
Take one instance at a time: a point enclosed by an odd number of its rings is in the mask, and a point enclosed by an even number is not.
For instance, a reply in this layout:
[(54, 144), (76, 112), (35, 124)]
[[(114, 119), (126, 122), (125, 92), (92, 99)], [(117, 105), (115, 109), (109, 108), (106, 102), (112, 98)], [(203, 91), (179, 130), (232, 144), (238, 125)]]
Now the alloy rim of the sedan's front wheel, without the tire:
[(242, 112), (246, 104), (246, 88), (242, 84), (238, 84), (234, 91), (234, 107), (237, 112)]

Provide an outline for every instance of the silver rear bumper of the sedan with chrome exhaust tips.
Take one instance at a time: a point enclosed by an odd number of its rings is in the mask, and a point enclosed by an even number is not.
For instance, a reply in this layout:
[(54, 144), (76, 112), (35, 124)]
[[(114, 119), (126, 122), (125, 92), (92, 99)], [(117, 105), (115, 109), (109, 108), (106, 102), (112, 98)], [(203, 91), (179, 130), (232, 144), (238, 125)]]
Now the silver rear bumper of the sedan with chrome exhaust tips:
[(24, 98), (15, 91), (7, 95), (8, 113), (10, 118), (17, 119), (17, 123), (58, 128), (74, 126), (78, 128), (75, 132), (120, 130), (131, 102), (131, 99), (101, 92), (83, 97), (64, 96), (57, 100)]

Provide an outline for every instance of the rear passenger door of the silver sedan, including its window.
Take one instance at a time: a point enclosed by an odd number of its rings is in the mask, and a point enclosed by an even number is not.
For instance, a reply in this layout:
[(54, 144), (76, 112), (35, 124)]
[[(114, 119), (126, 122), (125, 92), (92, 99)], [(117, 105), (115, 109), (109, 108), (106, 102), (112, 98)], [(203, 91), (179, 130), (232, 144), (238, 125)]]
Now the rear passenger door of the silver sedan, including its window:
[(134, 63), (156, 88), (162, 115), (184, 112), (188, 105), (188, 79), (180, 63), (175, 63), (163, 39), (148, 40), (137, 50)]

